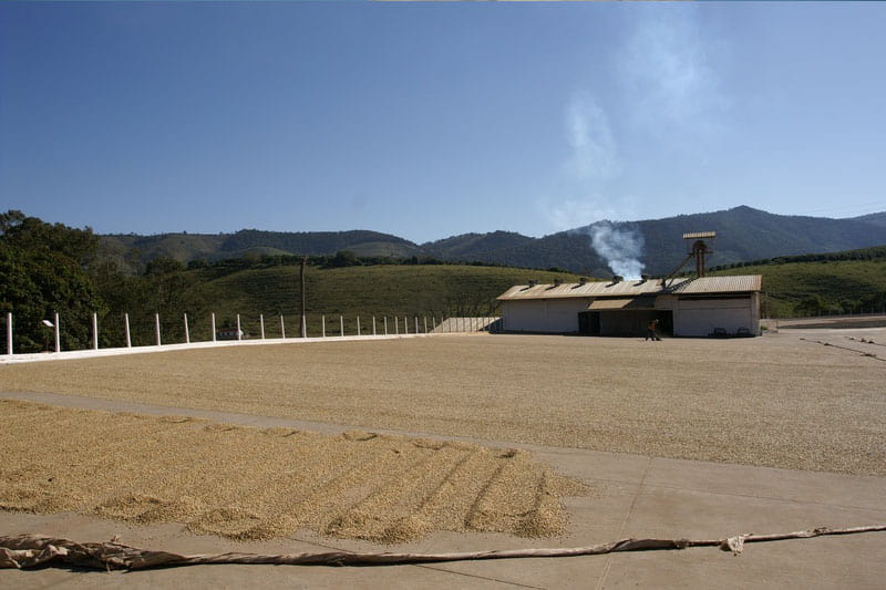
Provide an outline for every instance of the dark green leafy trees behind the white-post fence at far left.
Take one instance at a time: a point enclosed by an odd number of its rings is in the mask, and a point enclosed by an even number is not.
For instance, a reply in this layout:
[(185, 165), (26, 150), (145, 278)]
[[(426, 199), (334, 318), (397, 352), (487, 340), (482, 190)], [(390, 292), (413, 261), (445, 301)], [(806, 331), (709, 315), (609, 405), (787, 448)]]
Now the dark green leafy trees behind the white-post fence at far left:
[[(172, 319), (206, 308), (196, 278), (182, 265), (156, 259), (140, 275), (127, 275), (99, 256), (99, 242), (90, 227), (48, 224), (19, 210), (0, 214), (0, 312), (13, 313), (16, 352), (45, 350), (53, 329), (44, 320), (52, 322), (56, 312), (61, 345), (75, 350), (91, 345), (93, 313), (101, 320), (126, 311), (137, 323), (156, 312)], [(114, 322), (100, 345), (120, 345), (123, 330)]]

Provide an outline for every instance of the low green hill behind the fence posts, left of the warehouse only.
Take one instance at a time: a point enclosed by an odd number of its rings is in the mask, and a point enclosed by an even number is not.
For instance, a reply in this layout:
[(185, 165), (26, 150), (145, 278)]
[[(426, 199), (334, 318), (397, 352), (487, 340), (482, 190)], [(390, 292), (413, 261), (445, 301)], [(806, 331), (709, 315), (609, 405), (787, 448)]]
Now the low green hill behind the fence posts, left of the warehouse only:
[[(159, 309), (164, 342), (184, 340), (183, 313), (188, 314), (193, 340), (212, 338), (209, 314), (216, 313), (216, 325), (234, 327), (240, 314), (240, 325), (251, 338), (260, 333), (259, 314), (265, 315), (266, 337), (279, 338), (280, 315), (286, 335), (298, 335), (301, 298), (298, 266), (276, 266), (251, 269), (205, 268), (172, 272), (166, 276), (132, 277), (132, 297), (111, 303), (111, 313), (103, 320), (106, 345), (123, 341), (124, 311), (130, 311), (133, 343), (154, 341), (153, 313)], [(432, 318), (485, 317), (497, 314), (495, 298), (509, 287), (534, 279), (553, 282), (555, 279), (577, 281), (578, 276), (502, 267), (453, 265), (379, 265), (347, 268), (308, 267), (306, 272), (308, 335), (321, 333), (321, 315), (327, 317), (327, 333), (339, 333), (339, 317), (344, 317), (346, 333), (357, 332), (357, 315), (361, 317), (362, 333), (371, 333), (372, 315), (382, 331), (387, 315), (390, 333), (394, 317), (410, 317), (409, 331), (414, 330), (414, 317), (423, 318), (429, 328)], [(127, 290), (115, 286), (115, 290)], [(175, 291), (175, 292), (174, 292)], [(158, 298), (155, 296), (159, 296)], [(153, 298), (153, 299), (152, 299)], [(167, 302), (171, 301), (169, 304)], [(135, 308), (138, 308), (137, 310)]]

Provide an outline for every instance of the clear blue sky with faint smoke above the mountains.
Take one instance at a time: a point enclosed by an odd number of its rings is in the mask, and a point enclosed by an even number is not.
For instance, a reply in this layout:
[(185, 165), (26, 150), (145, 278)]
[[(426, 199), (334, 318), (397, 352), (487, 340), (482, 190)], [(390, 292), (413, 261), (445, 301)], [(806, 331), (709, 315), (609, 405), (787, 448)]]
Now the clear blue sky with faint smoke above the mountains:
[(0, 209), (414, 241), (886, 210), (883, 3), (0, 3)]

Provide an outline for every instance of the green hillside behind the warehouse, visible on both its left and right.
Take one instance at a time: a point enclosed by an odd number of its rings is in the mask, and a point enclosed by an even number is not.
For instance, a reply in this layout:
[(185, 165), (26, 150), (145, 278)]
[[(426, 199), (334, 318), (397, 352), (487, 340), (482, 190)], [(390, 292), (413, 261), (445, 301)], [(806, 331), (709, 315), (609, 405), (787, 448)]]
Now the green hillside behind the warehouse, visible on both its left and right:
[[(762, 275), (767, 317), (818, 315), (886, 310), (886, 248), (880, 258), (868, 260), (767, 261), (767, 263), (712, 271), (711, 275)], [(821, 256), (821, 255), (820, 255)], [(838, 256), (838, 255), (834, 255)], [(555, 279), (576, 281), (578, 276), (566, 272), (452, 265), (379, 265), (347, 268), (307, 269), (307, 327), (309, 335), (320, 335), (321, 315), (326, 315), (327, 334), (339, 333), (339, 318), (344, 318), (348, 334), (357, 332), (357, 317), (362, 333), (371, 333), (372, 315), (382, 331), (383, 318), (394, 332), (394, 317), (402, 332), (404, 317), (410, 318), (409, 331), (414, 330), (414, 317), (420, 328), (429, 327), (432, 318), (483, 317), (499, 313), (495, 298), (513, 284), (534, 279), (553, 282)], [(133, 280), (144, 280), (133, 278)], [(136, 290), (135, 300), (146, 301), (146, 293), (168, 297), (176, 284), (181, 290), (173, 303), (163, 300), (145, 303), (153, 307), (131, 312), (135, 344), (150, 344), (154, 339), (153, 313), (161, 310), (164, 342), (184, 339), (182, 313), (187, 312), (192, 339), (208, 340), (209, 313), (216, 313), (217, 327), (236, 325), (240, 314), (243, 330), (250, 338), (260, 333), (259, 314), (265, 315), (266, 335), (280, 335), (280, 315), (286, 333), (299, 333), (301, 299), (299, 267), (268, 268), (204, 268), (178, 271), (168, 279), (156, 277), (151, 287)], [(172, 281), (172, 282), (171, 282)], [(177, 282), (175, 282), (177, 281)], [(153, 297), (153, 296), (152, 296)], [(148, 297), (150, 299), (150, 297)], [(122, 335), (122, 313), (126, 303), (112, 304), (103, 320), (106, 345), (119, 345)]]

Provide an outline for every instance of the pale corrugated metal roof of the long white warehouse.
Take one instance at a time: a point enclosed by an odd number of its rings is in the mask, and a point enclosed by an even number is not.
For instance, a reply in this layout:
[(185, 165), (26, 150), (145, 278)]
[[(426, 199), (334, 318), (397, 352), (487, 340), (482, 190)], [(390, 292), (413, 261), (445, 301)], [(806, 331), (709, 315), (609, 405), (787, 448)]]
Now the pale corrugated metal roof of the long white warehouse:
[(637, 297), (642, 294), (698, 294), (698, 293), (746, 293), (760, 291), (760, 275), (738, 277), (702, 277), (700, 279), (670, 279), (667, 289), (661, 288), (660, 279), (647, 281), (593, 281), (585, 284), (565, 282), (563, 284), (515, 284), (498, 297), (499, 301), (525, 299), (571, 299), (576, 297)]

